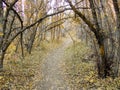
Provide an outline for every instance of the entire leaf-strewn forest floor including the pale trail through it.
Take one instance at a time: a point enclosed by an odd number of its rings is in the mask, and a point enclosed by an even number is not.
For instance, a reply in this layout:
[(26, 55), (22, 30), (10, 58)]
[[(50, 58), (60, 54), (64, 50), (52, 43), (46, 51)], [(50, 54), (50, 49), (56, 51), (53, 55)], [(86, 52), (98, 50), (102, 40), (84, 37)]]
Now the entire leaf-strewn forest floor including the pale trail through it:
[(79, 40), (42, 42), (25, 59), (15, 54), (5, 61), (0, 90), (120, 90), (120, 77), (98, 78), (92, 54)]

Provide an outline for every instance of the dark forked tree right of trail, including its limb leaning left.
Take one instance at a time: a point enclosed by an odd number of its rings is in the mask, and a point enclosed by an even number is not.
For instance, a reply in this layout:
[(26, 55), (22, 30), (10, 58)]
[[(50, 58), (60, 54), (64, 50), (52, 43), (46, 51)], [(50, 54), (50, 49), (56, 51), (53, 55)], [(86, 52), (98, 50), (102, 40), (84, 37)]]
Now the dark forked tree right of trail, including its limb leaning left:
[(72, 10), (88, 25), (90, 31), (93, 32), (96, 37), (100, 54), (100, 58), (97, 61), (98, 76), (101, 78), (106, 78), (107, 76), (114, 77), (115, 73), (112, 69), (112, 65), (114, 64), (113, 63), (114, 58), (110, 57), (108, 55), (108, 52), (106, 53), (106, 49), (110, 46), (107, 47), (105, 46), (105, 39), (106, 37), (109, 37), (109, 35), (106, 35), (104, 33), (105, 31), (104, 28), (100, 27), (100, 23), (98, 22), (100, 17), (98, 17), (98, 13), (96, 12), (96, 7), (94, 3), (95, 0), (89, 0), (90, 9), (94, 22), (88, 20), (86, 16), (81, 13), (80, 10), (77, 10), (70, 0), (67, 0), (67, 2), (71, 6)]

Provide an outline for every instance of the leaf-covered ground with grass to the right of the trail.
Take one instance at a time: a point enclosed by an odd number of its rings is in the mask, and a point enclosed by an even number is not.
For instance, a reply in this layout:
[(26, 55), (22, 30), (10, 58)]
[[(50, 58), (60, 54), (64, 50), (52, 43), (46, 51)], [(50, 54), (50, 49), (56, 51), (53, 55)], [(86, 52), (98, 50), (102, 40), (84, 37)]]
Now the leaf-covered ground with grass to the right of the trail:
[[(95, 57), (83, 42), (76, 42), (66, 50), (66, 79), (73, 90), (120, 90), (120, 77), (98, 79)], [(69, 57), (68, 57), (69, 56)]]

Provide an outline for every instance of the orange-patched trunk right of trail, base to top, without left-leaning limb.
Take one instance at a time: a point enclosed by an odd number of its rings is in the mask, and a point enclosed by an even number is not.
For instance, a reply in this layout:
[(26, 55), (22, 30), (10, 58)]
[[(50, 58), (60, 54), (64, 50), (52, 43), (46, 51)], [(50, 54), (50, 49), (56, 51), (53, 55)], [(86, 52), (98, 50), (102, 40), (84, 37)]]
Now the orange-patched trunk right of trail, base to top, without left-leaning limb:
[(100, 20), (100, 17), (97, 16), (97, 11), (95, 9), (95, 5), (94, 5), (94, 0), (89, 0), (89, 3), (90, 3), (90, 7), (91, 7), (91, 11), (92, 11), (92, 15), (93, 15), (93, 20), (94, 20), (94, 23), (95, 23), (95, 27), (96, 27), (96, 39), (98, 41), (98, 45), (99, 45), (99, 53), (100, 53), (100, 57), (99, 60), (97, 63), (98, 63), (98, 75), (99, 77), (102, 77), (102, 78), (106, 78), (107, 76), (110, 76), (110, 66), (109, 65), (109, 60), (108, 60), (108, 55), (107, 53), (105, 52), (105, 45), (104, 45), (104, 33), (103, 33), (103, 29), (100, 27), (98, 21)]

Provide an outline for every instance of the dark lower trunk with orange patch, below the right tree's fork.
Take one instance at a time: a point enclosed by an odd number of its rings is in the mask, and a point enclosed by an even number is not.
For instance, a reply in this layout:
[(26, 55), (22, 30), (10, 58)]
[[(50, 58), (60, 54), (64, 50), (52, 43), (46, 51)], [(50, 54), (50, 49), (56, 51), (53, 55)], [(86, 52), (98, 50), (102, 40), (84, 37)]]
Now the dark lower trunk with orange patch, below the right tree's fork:
[(111, 63), (107, 59), (107, 55), (105, 53), (105, 47), (104, 47), (104, 39), (99, 39), (98, 40), (99, 44), (99, 53), (100, 57), (97, 61), (97, 66), (98, 66), (98, 76), (101, 78), (106, 78), (107, 76), (110, 76), (111, 72)]

